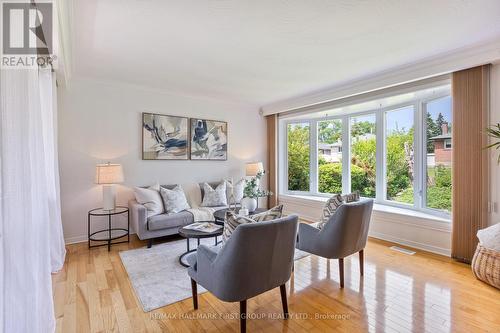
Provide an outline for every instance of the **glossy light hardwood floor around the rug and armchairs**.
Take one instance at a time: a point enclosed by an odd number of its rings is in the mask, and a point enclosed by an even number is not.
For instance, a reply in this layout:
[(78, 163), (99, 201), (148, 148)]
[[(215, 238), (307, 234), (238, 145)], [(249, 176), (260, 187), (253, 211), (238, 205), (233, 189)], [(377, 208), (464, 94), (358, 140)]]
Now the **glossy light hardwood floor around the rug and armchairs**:
[[(87, 249), (68, 246), (63, 271), (53, 276), (57, 332), (238, 332), (238, 303), (209, 293), (199, 310), (186, 299), (144, 313), (119, 251), (129, 244)], [(338, 263), (310, 256), (295, 263), (287, 283), (290, 318), (283, 320), (279, 288), (248, 301), (248, 332), (498, 332), (500, 291), (476, 280), (470, 266), (418, 251), (392, 251), (371, 239), (358, 256), (344, 260), (345, 288)], [(186, 279), (189, 277), (186, 274)]]

